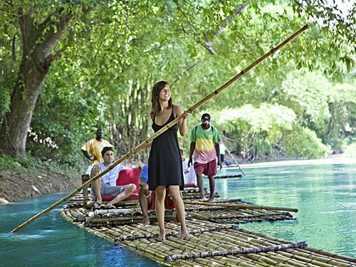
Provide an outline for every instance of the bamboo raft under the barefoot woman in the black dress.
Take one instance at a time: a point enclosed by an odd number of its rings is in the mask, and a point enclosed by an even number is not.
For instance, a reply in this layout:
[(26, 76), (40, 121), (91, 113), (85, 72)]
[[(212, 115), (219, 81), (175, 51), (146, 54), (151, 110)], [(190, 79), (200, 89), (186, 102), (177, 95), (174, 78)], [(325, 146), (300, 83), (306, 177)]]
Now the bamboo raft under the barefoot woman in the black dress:
[(175, 211), (166, 210), (166, 240), (157, 241), (155, 210), (149, 211), (151, 224), (138, 224), (142, 213), (137, 200), (122, 201), (117, 209), (91, 211), (85, 206), (83, 194), (77, 194), (60, 214), (85, 231), (162, 266), (356, 267), (355, 258), (309, 248), (306, 241), (284, 241), (240, 227), (248, 222), (295, 220), (290, 212), (297, 209), (261, 206), (241, 199), (199, 202), (197, 188), (186, 188), (182, 196), (190, 234), (187, 239), (180, 238)]

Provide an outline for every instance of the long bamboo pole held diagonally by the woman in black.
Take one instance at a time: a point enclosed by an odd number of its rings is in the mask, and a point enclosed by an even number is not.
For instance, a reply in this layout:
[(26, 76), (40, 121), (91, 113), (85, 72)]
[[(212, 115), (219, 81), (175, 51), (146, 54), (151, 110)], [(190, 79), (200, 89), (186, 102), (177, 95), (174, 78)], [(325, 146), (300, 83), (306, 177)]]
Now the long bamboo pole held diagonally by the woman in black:
[[(276, 51), (280, 50), (281, 48), (283, 48), (284, 46), (286, 46), (288, 43), (290, 43), (291, 41), (293, 41), (295, 38), (297, 38), (301, 33), (303, 33), (304, 31), (306, 31), (309, 28), (308, 24), (306, 24), (305, 26), (303, 26), (303, 28), (300, 28), (299, 31), (295, 32), (292, 36), (290, 36), (288, 39), (286, 39), (286, 41), (283, 41), (283, 43), (279, 44), (278, 46), (276, 46), (275, 48), (273, 48), (271, 51), (269, 51), (268, 53), (266, 53), (265, 55), (261, 56), (261, 58), (258, 58), (257, 61), (253, 62), (250, 66), (248, 66), (247, 68), (245, 68), (244, 70), (241, 71), (241, 73), (239, 73), (238, 75), (236, 75), (234, 78), (232, 78), (231, 80), (229, 80), (227, 83), (225, 83), (224, 85), (222, 85), (219, 89), (215, 90), (213, 93), (211, 93), (210, 95), (207, 95), (204, 99), (200, 100), (197, 104), (193, 105), (191, 108), (189, 108), (188, 110), (186, 110), (187, 112), (193, 112), (194, 110), (196, 110), (197, 108), (199, 108), (200, 105), (206, 103), (206, 101), (210, 100), (211, 98), (213, 98), (215, 95), (217, 95), (218, 93), (221, 93), (222, 90), (226, 89), (227, 87), (229, 87), (232, 83), (236, 82), (236, 80), (239, 80), (239, 78), (241, 78), (242, 76), (244, 76), (246, 73), (248, 73), (248, 71), (250, 71), (252, 68), (256, 67), (259, 63), (261, 63), (262, 61), (264, 61), (266, 58), (268, 58), (269, 56), (271, 56), (273, 53), (276, 53)], [(56, 203), (52, 204), (51, 206), (49, 206), (47, 209), (41, 211), (40, 213), (36, 214), (35, 216), (33, 216), (31, 219), (28, 219), (28, 221), (24, 222), (23, 224), (17, 226), (14, 230), (12, 230), (11, 232), (14, 233), (16, 231), (19, 231), (20, 229), (22, 229), (24, 226), (31, 224), (32, 221), (34, 221), (35, 219), (37, 219), (38, 217), (42, 216), (43, 214), (46, 214), (48, 211), (51, 211), (52, 209), (54, 209), (56, 206), (58, 206), (59, 204), (62, 204), (63, 202), (67, 201), (68, 199), (70, 199), (70, 197), (74, 197), (75, 194), (77, 194), (78, 192), (80, 192), (80, 190), (82, 190), (84, 187), (88, 187), (89, 184), (91, 184), (92, 182), (94, 182), (96, 179), (99, 179), (100, 177), (102, 177), (104, 174), (110, 172), (110, 170), (112, 168), (114, 168), (115, 166), (117, 166), (117, 164), (119, 164), (120, 162), (124, 161), (125, 159), (127, 159), (128, 157), (130, 157), (132, 154), (135, 154), (136, 152), (140, 151), (143, 147), (145, 147), (145, 145), (149, 144), (150, 142), (152, 142), (152, 140), (154, 140), (157, 136), (161, 135), (162, 132), (165, 132), (166, 130), (168, 130), (170, 127), (172, 127), (173, 125), (175, 125), (179, 120), (182, 120), (183, 118), (183, 114), (180, 115), (179, 117), (175, 118), (172, 122), (170, 122), (168, 125), (166, 125), (165, 127), (163, 127), (161, 130), (159, 130), (158, 132), (155, 132), (154, 135), (152, 135), (151, 137), (149, 137), (147, 140), (145, 140), (144, 142), (142, 142), (140, 145), (137, 145), (137, 147), (135, 147), (135, 149), (133, 151), (127, 152), (125, 155), (123, 155), (122, 157), (120, 157), (120, 159), (117, 159), (116, 162), (114, 162), (108, 169), (105, 169), (105, 171), (101, 172), (100, 174), (96, 175), (95, 177), (89, 179), (87, 182), (85, 182), (84, 184), (82, 184), (80, 187), (78, 187), (77, 189), (75, 189), (72, 193), (68, 194), (68, 196), (63, 197), (63, 199), (58, 200)]]

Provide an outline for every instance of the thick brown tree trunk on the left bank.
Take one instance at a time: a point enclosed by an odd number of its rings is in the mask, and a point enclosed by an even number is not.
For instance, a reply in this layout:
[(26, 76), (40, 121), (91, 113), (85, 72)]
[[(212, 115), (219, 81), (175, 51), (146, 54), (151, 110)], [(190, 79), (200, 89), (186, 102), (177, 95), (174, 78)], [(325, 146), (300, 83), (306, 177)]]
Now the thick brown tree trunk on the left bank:
[[(31, 11), (23, 14), (20, 9), (18, 17), (23, 56), (19, 78), (11, 95), (10, 110), (5, 113), (2, 121), (0, 147), (1, 153), (5, 155), (25, 158), (27, 133), (41, 90), (41, 83), (51, 63), (58, 56), (58, 51), (52, 53), (53, 48), (60, 41), (73, 15), (65, 14), (62, 9), (59, 9), (50, 14), (42, 23), (36, 24), (31, 18)], [(58, 20), (53, 20), (53, 17)]]

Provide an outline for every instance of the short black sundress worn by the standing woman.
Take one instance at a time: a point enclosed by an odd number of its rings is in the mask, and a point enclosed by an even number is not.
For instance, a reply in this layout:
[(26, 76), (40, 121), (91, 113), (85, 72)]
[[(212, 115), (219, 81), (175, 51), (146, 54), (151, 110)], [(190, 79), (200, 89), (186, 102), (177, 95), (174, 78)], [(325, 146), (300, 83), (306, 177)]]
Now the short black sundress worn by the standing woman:
[[(157, 125), (155, 119), (156, 116), (153, 117), (152, 129), (157, 132), (174, 120), (173, 107), (172, 113), (164, 125)], [(184, 189), (177, 130), (178, 124), (176, 123), (152, 141), (148, 159), (148, 185), (150, 190), (155, 190), (159, 185), (164, 185), (167, 188), (169, 185), (179, 185), (180, 190)]]

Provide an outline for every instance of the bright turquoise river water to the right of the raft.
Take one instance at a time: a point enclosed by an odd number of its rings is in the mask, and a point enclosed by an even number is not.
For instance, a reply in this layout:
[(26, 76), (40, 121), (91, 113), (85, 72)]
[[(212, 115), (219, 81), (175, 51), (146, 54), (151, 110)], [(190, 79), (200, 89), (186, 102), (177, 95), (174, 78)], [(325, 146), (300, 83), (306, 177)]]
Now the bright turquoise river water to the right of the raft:
[[(216, 179), (224, 197), (298, 209), (296, 221), (240, 224), (287, 241), (308, 241), (356, 258), (356, 164), (300, 164), (243, 168), (246, 177)], [(236, 173), (226, 169), (221, 173)], [(204, 181), (204, 185), (207, 180)]]

